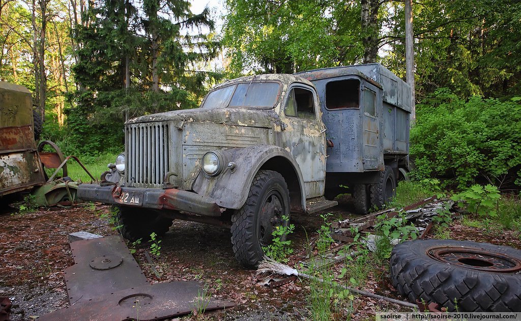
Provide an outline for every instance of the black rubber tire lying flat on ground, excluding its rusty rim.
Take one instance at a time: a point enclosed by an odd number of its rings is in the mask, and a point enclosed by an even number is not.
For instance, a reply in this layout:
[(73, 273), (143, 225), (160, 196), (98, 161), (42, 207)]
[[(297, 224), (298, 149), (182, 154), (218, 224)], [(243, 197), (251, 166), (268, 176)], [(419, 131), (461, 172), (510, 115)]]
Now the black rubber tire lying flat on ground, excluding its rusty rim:
[[(436, 302), (448, 311), (521, 312), (521, 275), (489, 273), (438, 262), (425, 247), (469, 246), (521, 258), (521, 251), (508, 246), (455, 240), (417, 240), (394, 247), (391, 253), (391, 281), (411, 302)], [(506, 308), (506, 310), (505, 310)]]

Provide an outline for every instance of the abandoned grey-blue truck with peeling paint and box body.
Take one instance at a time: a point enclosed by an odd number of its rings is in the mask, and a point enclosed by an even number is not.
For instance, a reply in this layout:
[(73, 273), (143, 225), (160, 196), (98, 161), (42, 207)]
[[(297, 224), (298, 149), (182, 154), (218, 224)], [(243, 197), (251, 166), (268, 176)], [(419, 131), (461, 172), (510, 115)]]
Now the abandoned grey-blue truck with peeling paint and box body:
[(380, 64), (228, 80), (200, 108), (127, 121), (125, 151), (78, 196), (117, 206), (129, 240), (173, 219), (230, 227), (235, 257), (256, 266), (291, 213), (324, 211), (344, 187), (359, 213), (393, 196), (409, 96)]

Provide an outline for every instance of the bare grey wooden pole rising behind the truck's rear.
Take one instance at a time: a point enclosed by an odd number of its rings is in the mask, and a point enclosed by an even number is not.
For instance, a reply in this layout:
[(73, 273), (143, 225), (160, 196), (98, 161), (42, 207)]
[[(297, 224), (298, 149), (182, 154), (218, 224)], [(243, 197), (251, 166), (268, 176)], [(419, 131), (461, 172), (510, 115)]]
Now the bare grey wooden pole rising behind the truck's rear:
[(416, 123), (414, 95), (414, 38), (413, 38), (413, 1), (405, 1), (405, 78), (411, 87), (411, 126)]

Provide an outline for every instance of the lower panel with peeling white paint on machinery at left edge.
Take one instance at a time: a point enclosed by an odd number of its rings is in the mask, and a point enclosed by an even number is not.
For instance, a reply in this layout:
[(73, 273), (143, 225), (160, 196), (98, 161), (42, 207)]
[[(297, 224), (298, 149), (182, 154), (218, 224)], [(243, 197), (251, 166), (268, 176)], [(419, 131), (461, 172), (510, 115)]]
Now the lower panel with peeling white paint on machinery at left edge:
[(0, 195), (26, 190), (45, 182), (35, 150), (0, 154), (0, 177)]

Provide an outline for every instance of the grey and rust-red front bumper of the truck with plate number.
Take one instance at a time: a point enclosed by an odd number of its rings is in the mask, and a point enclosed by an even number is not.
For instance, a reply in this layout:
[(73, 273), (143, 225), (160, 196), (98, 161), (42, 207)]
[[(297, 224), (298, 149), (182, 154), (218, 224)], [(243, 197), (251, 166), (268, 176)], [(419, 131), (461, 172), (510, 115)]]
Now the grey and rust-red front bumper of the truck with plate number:
[[(142, 193), (138, 204), (121, 201), (123, 193)], [(140, 194), (141, 195), (141, 194)], [(78, 198), (85, 201), (118, 204), (151, 209), (170, 209), (204, 216), (220, 216), (221, 211), (215, 200), (194, 192), (178, 189), (133, 188), (120, 186), (100, 186), (99, 184), (80, 184)]]

